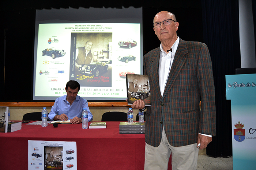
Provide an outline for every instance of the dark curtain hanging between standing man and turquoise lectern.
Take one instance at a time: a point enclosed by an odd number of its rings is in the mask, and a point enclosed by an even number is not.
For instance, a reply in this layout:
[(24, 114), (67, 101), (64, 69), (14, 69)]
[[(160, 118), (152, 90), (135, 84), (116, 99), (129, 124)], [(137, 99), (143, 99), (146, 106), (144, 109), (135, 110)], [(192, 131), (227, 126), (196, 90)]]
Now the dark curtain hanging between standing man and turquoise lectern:
[(241, 67), (238, 0), (202, 0), (204, 42), (211, 58), (215, 83), (216, 136), (207, 155), (232, 155), (230, 100), (226, 100), (225, 75)]

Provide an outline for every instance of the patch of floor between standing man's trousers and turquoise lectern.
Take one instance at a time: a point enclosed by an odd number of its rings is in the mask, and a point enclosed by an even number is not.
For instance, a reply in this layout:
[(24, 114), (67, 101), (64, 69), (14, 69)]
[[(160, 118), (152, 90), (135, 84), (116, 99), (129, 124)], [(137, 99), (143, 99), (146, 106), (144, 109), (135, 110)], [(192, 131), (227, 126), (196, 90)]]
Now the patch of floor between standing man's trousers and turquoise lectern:
[(233, 157), (209, 157), (198, 155), (197, 170), (233, 170)]

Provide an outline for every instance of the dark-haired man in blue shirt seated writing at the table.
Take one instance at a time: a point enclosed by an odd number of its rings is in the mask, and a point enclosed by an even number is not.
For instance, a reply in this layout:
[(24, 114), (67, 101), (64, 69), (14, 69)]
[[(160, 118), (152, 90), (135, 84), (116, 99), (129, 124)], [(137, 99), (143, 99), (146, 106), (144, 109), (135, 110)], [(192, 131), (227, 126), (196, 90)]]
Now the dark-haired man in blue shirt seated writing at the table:
[(88, 102), (78, 96), (80, 90), (80, 84), (74, 80), (70, 80), (65, 90), (67, 95), (57, 98), (54, 105), (48, 115), (49, 120), (70, 120), (72, 124), (78, 124), (82, 122), (83, 108), (87, 108), (88, 122), (93, 120), (93, 115), (88, 107)]

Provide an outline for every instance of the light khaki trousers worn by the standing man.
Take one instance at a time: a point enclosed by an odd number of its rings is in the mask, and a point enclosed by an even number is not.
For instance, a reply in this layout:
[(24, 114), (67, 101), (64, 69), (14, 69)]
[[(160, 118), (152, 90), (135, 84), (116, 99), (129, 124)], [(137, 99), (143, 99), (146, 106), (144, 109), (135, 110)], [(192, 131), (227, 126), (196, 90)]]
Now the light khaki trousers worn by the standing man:
[(162, 139), (158, 147), (145, 146), (144, 170), (167, 170), (172, 154), (172, 170), (196, 170), (199, 149), (197, 143), (174, 147), (167, 140), (163, 129)]

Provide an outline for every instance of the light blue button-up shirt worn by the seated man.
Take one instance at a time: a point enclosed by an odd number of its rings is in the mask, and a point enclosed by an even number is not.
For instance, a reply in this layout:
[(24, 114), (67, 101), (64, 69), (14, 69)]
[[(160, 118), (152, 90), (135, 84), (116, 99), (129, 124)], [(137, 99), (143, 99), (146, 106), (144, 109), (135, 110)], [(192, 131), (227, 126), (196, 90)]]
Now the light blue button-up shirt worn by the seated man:
[(53, 121), (54, 116), (65, 114), (69, 119), (73, 119), (75, 116), (78, 118), (82, 117), (83, 108), (87, 108), (88, 111), (88, 121), (93, 120), (93, 114), (88, 106), (87, 100), (76, 96), (75, 101), (70, 106), (70, 103), (67, 100), (67, 95), (57, 98), (54, 102), (54, 105), (48, 115), (48, 119)]

